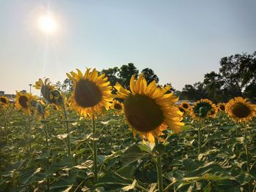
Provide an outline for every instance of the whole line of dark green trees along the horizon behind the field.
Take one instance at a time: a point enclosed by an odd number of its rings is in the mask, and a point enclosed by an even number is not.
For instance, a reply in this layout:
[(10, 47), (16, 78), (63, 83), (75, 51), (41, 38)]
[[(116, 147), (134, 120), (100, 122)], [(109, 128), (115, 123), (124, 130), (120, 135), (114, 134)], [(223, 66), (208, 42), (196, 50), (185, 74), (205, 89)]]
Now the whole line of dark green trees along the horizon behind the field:
[[(219, 72), (208, 72), (204, 75), (203, 82), (184, 85), (182, 91), (174, 91), (181, 100), (197, 101), (210, 99), (215, 103), (227, 102), (235, 96), (244, 96), (252, 102), (256, 102), (256, 51), (252, 54), (242, 53), (230, 55), (220, 59)], [(148, 83), (159, 77), (150, 68), (141, 71)], [(129, 88), (129, 80), (132, 74), (138, 77), (139, 70), (129, 63), (119, 67), (102, 69), (110, 81), (110, 85), (119, 82), (125, 88)], [(56, 85), (66, 93), (72, 91), (72, 82), (69, 79)], [(167, 83), (166, 85), (171, 85)], [(164, 85), (165, 86), (165, 85)]]

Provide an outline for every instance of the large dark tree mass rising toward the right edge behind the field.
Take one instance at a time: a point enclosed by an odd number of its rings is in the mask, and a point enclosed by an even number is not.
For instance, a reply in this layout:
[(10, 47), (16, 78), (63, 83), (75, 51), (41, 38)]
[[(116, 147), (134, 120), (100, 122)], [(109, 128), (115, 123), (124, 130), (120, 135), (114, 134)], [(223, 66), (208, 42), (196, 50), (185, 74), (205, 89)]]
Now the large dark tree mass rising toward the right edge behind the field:
[(205, 74), (203, 82), (187, 84), (181, 95), (185, 99), (211, 99), (227, 102), (235, 96), (256, 101), (256, 52), (236, 54), (220, 60), (219, 72)]

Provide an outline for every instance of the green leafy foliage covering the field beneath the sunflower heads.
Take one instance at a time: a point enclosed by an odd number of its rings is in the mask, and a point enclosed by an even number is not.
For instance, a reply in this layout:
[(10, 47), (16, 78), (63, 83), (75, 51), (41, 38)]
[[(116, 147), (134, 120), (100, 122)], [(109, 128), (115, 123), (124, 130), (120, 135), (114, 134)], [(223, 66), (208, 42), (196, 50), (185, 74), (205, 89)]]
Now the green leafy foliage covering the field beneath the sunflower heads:
[[(28, 121), (22, 112), (6, 111), (9, 137), (0, 135), (1, 191), (156, 191), (155, 158), (162, 157), (165, 191), (253, 191), (256, 180), (256, 123), (236, 125), (225, 114), (201, 125), (202, 153), (197, 152), (198, 123), (184, 118), (181, 134), (165, 131), (164, 142), (145, 145), (133, 138), (124, 116), (112, 111), (97, 119), (97, 134), (91, 120), (78, 120), (69, 112), (72, 155), (67, 156), (63, 111), (50, 111), (47, 119), (49, 147), (44, 123), (31, 117), (29, 157)], [(4, 126), (0, 115), (0, 127)], [(91, 144), (98, 143), (99, 183), (94, 183)], [(244, 146), (248, 145), (249, 161)], [(249, 172), (247, 164), (249, 162)]]

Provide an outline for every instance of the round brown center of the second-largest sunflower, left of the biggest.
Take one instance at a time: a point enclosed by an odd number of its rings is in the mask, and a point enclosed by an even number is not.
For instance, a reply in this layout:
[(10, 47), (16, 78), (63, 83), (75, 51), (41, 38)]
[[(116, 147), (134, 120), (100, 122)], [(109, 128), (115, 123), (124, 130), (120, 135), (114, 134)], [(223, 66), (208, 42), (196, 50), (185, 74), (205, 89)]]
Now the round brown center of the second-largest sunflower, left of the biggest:
[(75, 85), (75, 101), (80, 107), (94, 107), (102, 99), (102, 93), (94, 82), (80, 80)]

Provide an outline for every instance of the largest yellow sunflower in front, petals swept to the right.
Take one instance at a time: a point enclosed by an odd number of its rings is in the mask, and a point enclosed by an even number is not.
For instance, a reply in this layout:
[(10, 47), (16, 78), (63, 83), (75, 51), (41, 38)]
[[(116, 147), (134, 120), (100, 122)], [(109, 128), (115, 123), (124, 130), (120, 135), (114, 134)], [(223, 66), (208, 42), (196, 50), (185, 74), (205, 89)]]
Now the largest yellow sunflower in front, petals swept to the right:
[(167, 88), (157, 88), (152, 81), (149, 85), (143, 74), (135, 82), (135, 75), (130, 80), (130, 90), (127, 91), (119, 83), (115, 86), (116, 97), (124, 99), (124, 115), (127, 118), (133, 136), (140, 135), (142, 139), (155, 142), (162, 131), (169, 126), (173, 131), (181, 131), (182, 112), (174, 103), (178, 100), (173, 93), (165, 94)]

